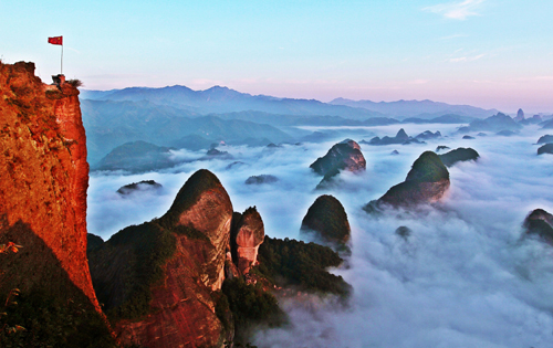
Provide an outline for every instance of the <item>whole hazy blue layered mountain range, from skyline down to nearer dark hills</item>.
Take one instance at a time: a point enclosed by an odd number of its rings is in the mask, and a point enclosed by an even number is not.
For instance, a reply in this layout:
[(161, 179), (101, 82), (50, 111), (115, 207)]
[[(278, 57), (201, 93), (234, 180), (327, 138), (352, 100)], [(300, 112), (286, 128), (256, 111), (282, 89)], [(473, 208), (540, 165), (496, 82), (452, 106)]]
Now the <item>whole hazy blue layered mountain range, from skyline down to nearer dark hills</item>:
[[(371, 101), (276, 98), (215, 86), (192, 91), (186, 86), (131, 87), (82, 91), (88, 162), (96, 165), (123, 144), (208, 149), (226, 144), (265, 146), (283, 141), (321, 141), (332, 134), (311, 133), (300, 126), (377, 126), (401, 123), (461, 123), (492, 116), (468, 105), (431, 101)], [(364, 136), (368, 134), (365, 131)], [(98, 164), (100, 165), (100, 164)]]

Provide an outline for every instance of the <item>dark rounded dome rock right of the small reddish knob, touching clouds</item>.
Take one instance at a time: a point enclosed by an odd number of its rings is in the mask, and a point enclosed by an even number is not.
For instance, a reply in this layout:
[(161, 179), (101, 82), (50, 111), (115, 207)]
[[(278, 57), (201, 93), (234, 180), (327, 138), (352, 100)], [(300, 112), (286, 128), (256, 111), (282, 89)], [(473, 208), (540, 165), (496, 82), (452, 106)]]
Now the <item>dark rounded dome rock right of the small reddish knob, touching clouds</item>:
[(347, 247), (351, 240), (349, 222), (342, 203), (330, 194), (320, 196), (303, 218), (302, 234), (313, 234), (316, 241), (331, 246)]

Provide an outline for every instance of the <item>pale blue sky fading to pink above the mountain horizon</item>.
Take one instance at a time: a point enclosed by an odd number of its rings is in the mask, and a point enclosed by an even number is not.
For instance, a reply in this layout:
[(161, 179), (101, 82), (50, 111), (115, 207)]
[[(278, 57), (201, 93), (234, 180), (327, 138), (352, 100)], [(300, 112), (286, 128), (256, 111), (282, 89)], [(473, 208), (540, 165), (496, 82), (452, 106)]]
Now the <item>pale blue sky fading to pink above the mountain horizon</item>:
[(6, 1), (0, 59), (88, 89), (227, 86), (553, 112), (553, 2)]

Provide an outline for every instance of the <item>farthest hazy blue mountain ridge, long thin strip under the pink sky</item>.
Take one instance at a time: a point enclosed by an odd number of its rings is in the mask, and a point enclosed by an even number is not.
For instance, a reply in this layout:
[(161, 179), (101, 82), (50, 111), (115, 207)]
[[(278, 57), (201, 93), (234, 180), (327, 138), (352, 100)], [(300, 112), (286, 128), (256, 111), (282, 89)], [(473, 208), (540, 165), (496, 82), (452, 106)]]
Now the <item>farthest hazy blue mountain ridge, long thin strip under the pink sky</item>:
[(354, 120), (371, 117), (418, 117), (436, 118), (447, 114), (483, 118), (498, 113), (469, 105), (449, 105), (431, 101), (371, 102), (337, 98), (331, 103), (315, 99), (278, 98), (267, 95), (251, 95), (227, 87), (215, 86), (194, 91), (175, 85), (163, 88), (129, 87), (112, 91), (82, 91), (81, 98), (95, 101), (148, 101), (157, 105), (173, 106), (190, 113), (223, 114), (237, 112), (263, 112), (295, 116), (340, 116)]

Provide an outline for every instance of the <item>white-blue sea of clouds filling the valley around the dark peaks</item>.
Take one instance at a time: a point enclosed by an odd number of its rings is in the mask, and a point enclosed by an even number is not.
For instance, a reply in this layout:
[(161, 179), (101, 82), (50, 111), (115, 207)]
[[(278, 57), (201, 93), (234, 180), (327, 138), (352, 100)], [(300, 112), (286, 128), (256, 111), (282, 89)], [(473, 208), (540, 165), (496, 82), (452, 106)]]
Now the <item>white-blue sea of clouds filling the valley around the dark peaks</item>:
[[(520, 135), (473, 140), (453, 134), (458, 125), (394, 125), (366, 133), (394, 136), (400, 127), (415, 136), (440, 130), (448, 137), (427, 145), (362, 145), (367, 170), (343, 172), (340, 186), (314, 191), (321, 180), (309, 166), (335, 143), (281, 148), (223, 147), (234, 158), (191, 161), (143, 175), (93, 173), (88, 231), (107, 240), (129, 224), (160, 217), (186, 180), (211, 170), (229, 192), (236, 211), (257, 205), (270, 236), (299, 239), (301, 221), (323, 193), (335, 196), (352, 225), (348, 268), (333, 270), (353, 285), (347, 308), (316, 309), (283, 302), (291, 327), (258, 333), (259, 347), (551, 347), (553, 341), (553, 247), (521, 239), (525, 215), (553, 212), (553, 157), (536, 156), (538, 126)], [(307, 130), (315, 130), (310, 128)], [(325, 130), (317, 128), (316, 130)], [(359, 128), (351, 129), (359, 141)], [(362, 129), (363, 130), (363, 129)], [(366, 140), (369, 137), (365, 138)], [(449, 169), (451, 187), (440, 204), (418, 211), (387, 211), (379, 218), (362, 207), (403, 181), (414, 160), (438, 145), (472, 147), (481, 158)], [(399, 155), (390, 155), (397, 149)], [(175, 159), (204, 152), (175, 151)], [(228, 166), (234, 161), (242, 164)], [(273, 175), (271, 184), (244, 184), (250, 176)], [(127, 183), (155, 180), (160, 191), (122, 197)], [(395, 233), (407, 226), (405, 239)]]

